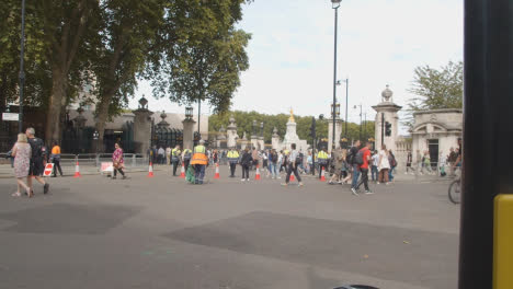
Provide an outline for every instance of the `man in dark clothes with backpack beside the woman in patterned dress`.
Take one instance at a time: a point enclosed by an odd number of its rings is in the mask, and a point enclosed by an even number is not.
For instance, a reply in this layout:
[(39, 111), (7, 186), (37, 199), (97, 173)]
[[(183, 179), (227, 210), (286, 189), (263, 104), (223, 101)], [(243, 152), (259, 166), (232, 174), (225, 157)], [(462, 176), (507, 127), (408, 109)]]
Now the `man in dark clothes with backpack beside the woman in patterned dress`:
[(35, 129), (30, 127), (25, 131), (26, 137), (29, 138), (29, 144), (31, 144), (32, 155), (31, 155), (31, 163), (29, 169), (29, 176), (26, 177), (26, 184), (31, 188), (29, 190), (31, 194), (33, 190), (32, 187), (32, 178), (34, 177), (39, 184), (43, 185), (43, 194), (48, 194), (49, 184), (41, 177), (43, 172), (45, 171), (45, 166), (43, 161), (46, 158), (46, 148), (45, 143), (42, 139), (35, 137)]

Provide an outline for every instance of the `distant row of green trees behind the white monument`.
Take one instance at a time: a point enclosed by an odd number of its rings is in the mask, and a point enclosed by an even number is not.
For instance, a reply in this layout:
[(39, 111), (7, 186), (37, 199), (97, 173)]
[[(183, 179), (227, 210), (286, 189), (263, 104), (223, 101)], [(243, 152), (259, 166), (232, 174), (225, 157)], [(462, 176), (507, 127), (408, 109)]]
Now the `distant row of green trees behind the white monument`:
[[(247, 137), (250, 138), (252, 135), (252, 124), (253, 120), (256, 120), (258, 124), (258, 135), (260, 136), (260, 124), (264, 123), (264, 140), (265, 142), (271, 142), (274, 127), (277, 128), (278, 135), (283, 139), (287, 130), (287, 122), (290, 115), (288, 114), (278, 114), (278, 115), (267, 115), (260, 114), (258, 112), (227, 112), (223, 114), (215, 114), (208, 118), (208, 131), (210, 135), (216, 135), (220, 127), (225, 128), (229, 125), (230, 117), (233, 116), (237, 123), (237, 132), (239, 137), (242, 138), (244, 131)], [(294, 116), (297, 124), (296, 131), (300, 139), (308, 140), (311, 143), (310, 137), (310, 126), (312, 116)], [(344, 127), (344, 124), (342, 124)], [(366, 129), (364, 129), (366, 128)], [(318, 138), (328, 138), (328, 120), (316, 119), (316, 130)], [(366, 134), (365, 134), (366, 132)], [(344, 135), (344, 132), (342, 132)], [(362, 138), (374, 137), (374, 122), (367, 122), (366, 126), (362, 126)], [(347, 124), (347, 138), (350, 140), (360, 139), (360, 124), (349, 123)]]

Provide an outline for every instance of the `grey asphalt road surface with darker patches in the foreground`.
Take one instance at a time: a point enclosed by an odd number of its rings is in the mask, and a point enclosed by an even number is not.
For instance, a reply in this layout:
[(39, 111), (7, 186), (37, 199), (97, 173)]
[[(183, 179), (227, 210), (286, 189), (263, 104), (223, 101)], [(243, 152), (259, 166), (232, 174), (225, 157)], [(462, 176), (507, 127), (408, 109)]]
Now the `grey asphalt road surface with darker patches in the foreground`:
[(459, 207), (444, 180), (404, 175), (353, 196), (314, 177), (283, 187), (220, 170), (203, 186), (166, 166), (56, 177), (32, 199), (0, 180), (0, 288), (457, 286)]

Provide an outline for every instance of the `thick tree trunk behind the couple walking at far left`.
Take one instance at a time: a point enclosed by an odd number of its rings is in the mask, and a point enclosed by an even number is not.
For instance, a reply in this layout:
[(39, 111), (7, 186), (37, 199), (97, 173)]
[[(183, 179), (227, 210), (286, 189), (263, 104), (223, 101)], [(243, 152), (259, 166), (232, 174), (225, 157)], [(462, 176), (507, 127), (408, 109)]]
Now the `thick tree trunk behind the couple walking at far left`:
[(59, 68), (54, 68), (52, 73), (52, 95), (48, 103), (46, 115), (46, 143), (53, 140), (59, 141), (61, 138), (60, 114), (62, 112), (62, 101), (66, 99), (66, 86), (68, 81), (66, 73)]

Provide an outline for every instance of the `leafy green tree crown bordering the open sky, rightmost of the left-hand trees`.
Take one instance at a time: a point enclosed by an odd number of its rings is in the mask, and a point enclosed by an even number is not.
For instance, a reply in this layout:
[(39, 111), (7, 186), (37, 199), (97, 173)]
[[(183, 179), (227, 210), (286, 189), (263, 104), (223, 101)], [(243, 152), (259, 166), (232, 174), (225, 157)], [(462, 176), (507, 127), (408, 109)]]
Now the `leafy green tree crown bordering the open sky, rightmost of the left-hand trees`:
[(240, 71), (249, 67), (244, 48), (250, 35), (233, 28), (246, 1), (182, 1), (166, 23), (190, 28), (169, 43), (164, 61), (153, 63), (153, 94), (176, 103), (208, 101), (215, 112), (226, 112)]

